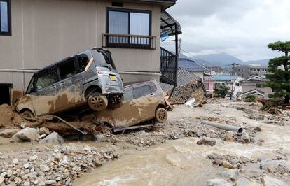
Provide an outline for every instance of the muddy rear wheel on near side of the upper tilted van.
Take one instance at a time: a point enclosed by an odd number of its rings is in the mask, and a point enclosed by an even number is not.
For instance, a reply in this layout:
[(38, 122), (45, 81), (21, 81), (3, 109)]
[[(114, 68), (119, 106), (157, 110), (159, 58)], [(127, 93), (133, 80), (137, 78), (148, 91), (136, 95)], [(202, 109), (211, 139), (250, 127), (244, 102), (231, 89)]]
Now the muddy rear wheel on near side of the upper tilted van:
[(108, 99), (106, 99), (106, 96), (94, 92), (88, 97), (88, 105), (92, 110), (99, 112), (108, 106)]

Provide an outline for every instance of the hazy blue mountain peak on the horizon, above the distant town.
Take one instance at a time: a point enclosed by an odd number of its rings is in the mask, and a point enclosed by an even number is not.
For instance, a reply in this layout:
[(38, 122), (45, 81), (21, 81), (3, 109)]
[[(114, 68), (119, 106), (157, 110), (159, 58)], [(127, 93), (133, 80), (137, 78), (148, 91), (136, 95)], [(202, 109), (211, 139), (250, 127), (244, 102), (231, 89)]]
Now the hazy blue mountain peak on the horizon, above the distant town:
[(244, 64), (241, 59), (234, 57), (232, 55), (228, 55), (225, 52), (218, 54), (209, 54), (209, 55), (197, 55), (199, 59), (205, 60), (212, 64), (212, 66), (228, 66), (235, 62), (236, 64)]

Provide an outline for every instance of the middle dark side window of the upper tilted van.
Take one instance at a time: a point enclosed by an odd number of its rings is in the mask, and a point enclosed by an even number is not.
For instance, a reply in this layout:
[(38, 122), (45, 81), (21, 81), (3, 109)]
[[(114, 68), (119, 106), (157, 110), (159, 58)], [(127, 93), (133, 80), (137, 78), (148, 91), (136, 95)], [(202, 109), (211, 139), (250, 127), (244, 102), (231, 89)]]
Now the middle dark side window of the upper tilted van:
[(74, 66), (74, 58), (69, 58), (59, 64), (60, 69), (60, 78), (62, 80), (66, 78), (70, 78), (71, 76), (74, 76), (76, 72), (76, 66)]

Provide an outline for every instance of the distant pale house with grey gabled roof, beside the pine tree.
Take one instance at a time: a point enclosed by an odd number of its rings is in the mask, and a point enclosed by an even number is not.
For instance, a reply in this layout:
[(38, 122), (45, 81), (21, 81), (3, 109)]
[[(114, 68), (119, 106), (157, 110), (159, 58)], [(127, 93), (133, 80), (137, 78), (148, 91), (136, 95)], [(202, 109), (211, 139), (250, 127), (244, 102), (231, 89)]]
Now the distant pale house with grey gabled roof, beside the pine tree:
[(269, 80), (265, 76), (252, 76), (247, 80), (242, 81), (242, 94), (240, 96), (247, 96), (247, 94), (255, 94), (258, 92), (259, 96), (264, 99), (269, 99), (269, 94), (272, 94), (270, 87), (264, 87), (263, 85)]

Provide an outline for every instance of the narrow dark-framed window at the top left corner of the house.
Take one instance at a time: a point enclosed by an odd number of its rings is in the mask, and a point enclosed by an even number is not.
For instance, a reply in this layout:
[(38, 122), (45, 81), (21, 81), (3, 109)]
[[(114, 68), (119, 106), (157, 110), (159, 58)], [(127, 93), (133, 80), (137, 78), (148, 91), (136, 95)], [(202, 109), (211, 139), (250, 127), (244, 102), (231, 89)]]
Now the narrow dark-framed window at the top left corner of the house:
[(11, 36), (10, 0), (0, 0), (0, 35)]

